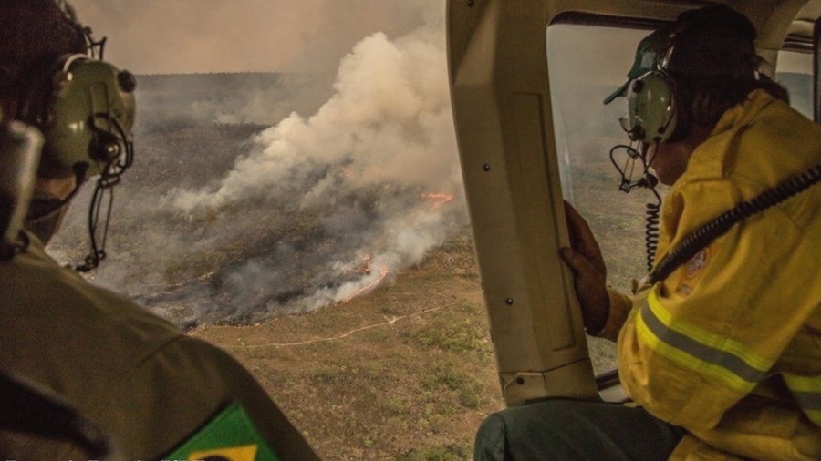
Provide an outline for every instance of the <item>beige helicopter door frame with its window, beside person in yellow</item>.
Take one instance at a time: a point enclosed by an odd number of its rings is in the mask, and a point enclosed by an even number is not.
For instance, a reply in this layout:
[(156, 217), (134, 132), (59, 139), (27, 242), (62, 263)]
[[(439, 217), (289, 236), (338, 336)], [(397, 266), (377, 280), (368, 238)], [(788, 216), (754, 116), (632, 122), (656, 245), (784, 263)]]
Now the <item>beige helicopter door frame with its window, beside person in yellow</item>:
[(650, 30), (722, 3), (756, 27), (760, 70), (819, 121), (821, 0), (449, 0), (456, 135), (507, 405), (625, 398), (612, 344), (586, 337), (558, 257), (569, 239), (563, 200), (598, 234), (609, 282), (629, 290), (647, 270), (645, 233), (652, 238), (658, 207), (647, 190), (619, 191), (610, 158), (629, 143), (618, 125), (627, 108), (603, 99), (625, 81)]

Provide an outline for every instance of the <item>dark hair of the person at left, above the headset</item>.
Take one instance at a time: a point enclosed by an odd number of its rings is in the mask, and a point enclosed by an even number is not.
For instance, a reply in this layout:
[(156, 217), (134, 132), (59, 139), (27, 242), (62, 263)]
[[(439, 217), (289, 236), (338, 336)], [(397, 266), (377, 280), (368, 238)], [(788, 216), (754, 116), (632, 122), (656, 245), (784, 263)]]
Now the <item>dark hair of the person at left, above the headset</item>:
[(82, 29), (54, 0), (0, 2), (0, 101), (23, 94), (26, 81), (58, 56), (86, 53)]

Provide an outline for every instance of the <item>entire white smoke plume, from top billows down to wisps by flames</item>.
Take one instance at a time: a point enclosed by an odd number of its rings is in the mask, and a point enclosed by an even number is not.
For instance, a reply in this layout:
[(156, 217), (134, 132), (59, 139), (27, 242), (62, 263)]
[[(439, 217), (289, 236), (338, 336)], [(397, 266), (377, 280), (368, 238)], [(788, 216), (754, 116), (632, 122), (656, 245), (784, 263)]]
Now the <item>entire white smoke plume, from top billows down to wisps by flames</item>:
[[(301, 293), (299, 309), (345, 302), (421, 261), (464, 221), (444, 12), (431, 5), (426, 24), (410, 34), (361, 40), (340, 61), (334, 96), (314, 115), (292, 113), (260, 133), (215, 187), (166, 196), (192, 217), (249, 203), (267, 204), (282, 220), (317, 216), (319, 240), (340, 250), (312, 267), (287, 266), (286, 259), (306, 257), (281, 241), (278, 257), (234, 270), (242, 274), (229, 277), (235, 292), (258, 292), (252, 285), (270, 286), (284, 270), (308, 271), (332, 282)], [(316, 245), (311, 258), (322, 252)], [(271, 297), (265, 305), (274, 311), (280, 303)]]

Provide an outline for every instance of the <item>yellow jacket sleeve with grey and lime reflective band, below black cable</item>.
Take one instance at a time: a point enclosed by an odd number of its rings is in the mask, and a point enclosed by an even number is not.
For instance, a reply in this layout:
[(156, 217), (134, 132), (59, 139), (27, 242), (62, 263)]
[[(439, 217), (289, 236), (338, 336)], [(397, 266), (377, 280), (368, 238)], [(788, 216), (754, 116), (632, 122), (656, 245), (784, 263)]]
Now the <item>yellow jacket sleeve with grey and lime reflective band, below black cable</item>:
[(673, 425), (709, 430), (753, 391), (816, 309), (814, 259), (795, 258), (813, 251), (805, 232), (772, 208), (639, 292), (618, 337), (631, 398)]

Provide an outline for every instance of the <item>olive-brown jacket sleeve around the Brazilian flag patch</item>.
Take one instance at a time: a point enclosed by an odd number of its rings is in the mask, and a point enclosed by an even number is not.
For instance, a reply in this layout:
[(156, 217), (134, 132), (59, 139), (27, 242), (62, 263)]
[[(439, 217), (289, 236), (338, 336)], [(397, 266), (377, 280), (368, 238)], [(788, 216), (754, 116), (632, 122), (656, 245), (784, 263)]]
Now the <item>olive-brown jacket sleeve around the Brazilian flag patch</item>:
[(127, 437), (137, 446), (165, 446), (167, 452), (223, 406), (239, 403), (276, 456), (319, 459), (255, 378), (210, 343), (181, 336), (140, 364), (134, 379), (139, 385), (127, 397), (131, 419), (148, 423)]

